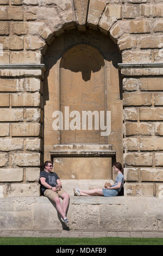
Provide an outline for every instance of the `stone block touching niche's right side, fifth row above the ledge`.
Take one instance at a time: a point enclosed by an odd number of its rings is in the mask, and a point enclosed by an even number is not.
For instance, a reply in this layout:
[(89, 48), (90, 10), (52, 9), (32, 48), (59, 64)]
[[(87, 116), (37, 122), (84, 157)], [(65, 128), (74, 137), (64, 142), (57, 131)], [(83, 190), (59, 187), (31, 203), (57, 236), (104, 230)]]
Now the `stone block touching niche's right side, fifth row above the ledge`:
[(126, 123), (126, 135), (151, 135), (152, 124), (151, 123)]

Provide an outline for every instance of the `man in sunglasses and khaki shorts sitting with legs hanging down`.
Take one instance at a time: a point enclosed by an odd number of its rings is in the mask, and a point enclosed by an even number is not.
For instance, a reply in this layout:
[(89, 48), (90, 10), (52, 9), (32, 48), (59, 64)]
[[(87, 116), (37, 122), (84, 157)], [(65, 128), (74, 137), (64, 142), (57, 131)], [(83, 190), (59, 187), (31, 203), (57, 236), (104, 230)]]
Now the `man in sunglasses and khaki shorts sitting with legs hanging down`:
[[(40, 182), (41, 190), (45, 197), (54, 201), (57, 207), (57, 211), (61, 215), (61, 221), (68, 224), (68, 219), (66, 218), (66, 212), (68, 209), (70, 196), (64, 189), (61, 188), (61, 181), (57, 173), (52, 172), (53, 164), (52, 161), (46, 161), (43, 164), (44, 171), (41, 171)], [(62, 205), (60, 203), (61, 197), (63, 199)]]

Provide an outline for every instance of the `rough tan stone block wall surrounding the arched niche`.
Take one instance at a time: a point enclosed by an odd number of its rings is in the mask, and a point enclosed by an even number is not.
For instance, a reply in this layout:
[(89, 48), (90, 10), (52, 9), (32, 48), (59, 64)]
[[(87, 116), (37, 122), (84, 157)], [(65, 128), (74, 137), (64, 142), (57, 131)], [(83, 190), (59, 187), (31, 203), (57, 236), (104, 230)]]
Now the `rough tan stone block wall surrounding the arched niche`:
[(162, 0), (0, 0), (1, 197), (40, 193), (40, 64), (75, 29), (99, 29), (122, 54), (125, 194), (162, 196), (162, 18)]

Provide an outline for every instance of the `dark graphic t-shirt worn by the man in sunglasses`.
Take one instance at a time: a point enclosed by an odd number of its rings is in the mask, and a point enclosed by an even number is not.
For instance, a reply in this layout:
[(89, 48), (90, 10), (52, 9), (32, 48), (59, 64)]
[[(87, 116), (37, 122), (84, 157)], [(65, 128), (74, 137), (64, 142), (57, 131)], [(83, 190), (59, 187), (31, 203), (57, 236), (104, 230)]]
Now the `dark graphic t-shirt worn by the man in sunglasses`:
[[(52, 187), (56, 187), (57, 186), (57, 180), (59, 180), (59, 177), (57, 175), (56, 172), (47, 172), (47, 171), (41, 171), (40, 173), (40, 178), (41, 177), (44, 177), (45, 178), (45, 181)], [(44, 193), (45, 190), (47, 188), (44, 187), (42, 184), (41, 184), (41, 190), (42, 192)]]

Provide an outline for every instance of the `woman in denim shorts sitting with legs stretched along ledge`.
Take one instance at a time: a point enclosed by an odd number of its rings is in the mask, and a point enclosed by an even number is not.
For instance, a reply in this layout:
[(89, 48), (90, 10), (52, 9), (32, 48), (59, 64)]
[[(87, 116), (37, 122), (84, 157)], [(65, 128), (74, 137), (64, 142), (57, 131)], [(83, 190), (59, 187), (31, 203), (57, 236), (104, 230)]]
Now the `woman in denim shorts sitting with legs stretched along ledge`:
[(92, 195), (103, 195), (104, 197), (116, 197), (118, 192), (121, 191), (123, 186), (123, 168), (121, 163), (115, 163), (113, 165), (113, 170), (117, 173), (115, 183), (111, 186), (105, 186), (105, 188), (94, 188), (89, 190), (82, 190), (79, 188), (73, 188), (74, 195), (78, 197), (80, 195), (85, 195), (86, 197), (91, 197)]

